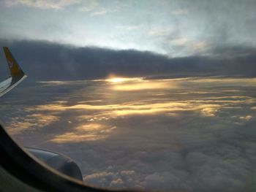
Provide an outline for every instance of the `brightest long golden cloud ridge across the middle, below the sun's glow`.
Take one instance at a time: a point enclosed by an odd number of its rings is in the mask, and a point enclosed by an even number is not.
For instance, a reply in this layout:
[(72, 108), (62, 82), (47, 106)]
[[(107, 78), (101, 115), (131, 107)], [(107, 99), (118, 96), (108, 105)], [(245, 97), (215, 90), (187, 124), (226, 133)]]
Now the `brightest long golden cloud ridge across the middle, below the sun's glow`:
[[(220, 104), (204, 104), (206, 102), (200, 103), (199, 101), (183, 101), (183, 102), (164, 102), (148, 104), (142, 103), (137, 104), (112, 104), (112, 105), (89, 105), (89, 104), (77, 104), (69, 107), (57, 104), (48, 104), (45, 106), (38, 106), (37, 110), (42, 111), (64, 111), (64, 110), (98, 110), (106, 115), (105, 112), (110, 112), (109, 115), (114, 117), (115, 115), (134, 115), (134, 114), (148, 114), (157, 112), (178, 112), (178, 111), (190, 111), (199, 110), (203, 114), (210, 114), (221, 107)], [(228, 102), (227, 102), (228, 103)], [(108, 114), (108, 113), (107, 113)]]

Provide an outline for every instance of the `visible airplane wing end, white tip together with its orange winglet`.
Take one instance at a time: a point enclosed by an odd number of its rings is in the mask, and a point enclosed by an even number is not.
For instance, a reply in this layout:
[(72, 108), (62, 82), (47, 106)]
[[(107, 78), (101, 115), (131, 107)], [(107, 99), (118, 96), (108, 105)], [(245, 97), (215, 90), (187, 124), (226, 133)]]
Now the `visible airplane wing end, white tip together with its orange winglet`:
[(0, 82), (0, 97), (10, 91), (27, 77), (18, 65), (17, 61), (15, 61), (15, 58), (12, 56), (10, 50), (7, 47), (3, 48), (10, 70), (10, 77), (8, 77), (7, 80)]

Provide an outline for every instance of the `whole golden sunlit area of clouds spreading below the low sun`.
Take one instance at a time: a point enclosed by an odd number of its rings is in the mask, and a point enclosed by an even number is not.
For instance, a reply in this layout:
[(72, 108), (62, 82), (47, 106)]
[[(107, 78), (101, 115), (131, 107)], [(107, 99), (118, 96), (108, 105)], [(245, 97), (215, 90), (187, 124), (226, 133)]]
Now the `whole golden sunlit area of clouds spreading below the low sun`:
[[(222, 79), (221, 79), (222, 80)], [(113, 77), (100, 80), (100, 88), (90, 93), (89, 100), (68, 103), (61, 98), (30, 107), (24, 107), (27, 115), (12, 118), (7, 123), (11, 134), (35, 130), (58, 123), (63, 112), (76, 114), (72, 116), (73, 128), (50, 139), (52, 142), (82, 142), (105, 139), (116, 128), (113, 123), (118, 118), (129, 118), (132, 115), (180, 115), (182, 112), (198, 112), (202, 117), (215, 118), (222, 110), (239, 110), (241, 105), (250, 104), (250, 110), (256, 110), (256, 99), (242, 95), (239, 90), (222, 89), (219, 91), (221, 80), (215, 79), (175, 79), (175, 80), (143, 80), (143, 78)], [(226, 85), (252, 85), (255, 78), (223, 79)], [(236, 83), (235, 83), (236, 82)], [(48, 82), (45, 82), (46, 84)], [(56, 82), (49, 82), (56, 85)], [(67, 85), (83, 82), (67, 82)], [(62, 85), (61, 82), (57, 84)], [(97, 85), (98, 85), (97, 84)], [(200, 88), (201, 85), (204, 85)], [(210, 86), (211, 85), (211, 86)], [(218, 85), (218, 89), (214, 89)], [(254, 84), (253, 84), (254, 85)], [(102, 87), (104, 86), (104, 89)], [(146, 91), (144, 91), (146, 90)], [(126, 91), (122, 93), (121, 91)], [(208, 95), (211, 93), (210, 95)], [(91, 100), (92, 99), (92, 100)], [(235, 117), (235, 116), (234, 116)], [(252, 120), (251, 113), (236, 115), (240, 121)], [(67, 120), (67, 122), (69, 122)]]

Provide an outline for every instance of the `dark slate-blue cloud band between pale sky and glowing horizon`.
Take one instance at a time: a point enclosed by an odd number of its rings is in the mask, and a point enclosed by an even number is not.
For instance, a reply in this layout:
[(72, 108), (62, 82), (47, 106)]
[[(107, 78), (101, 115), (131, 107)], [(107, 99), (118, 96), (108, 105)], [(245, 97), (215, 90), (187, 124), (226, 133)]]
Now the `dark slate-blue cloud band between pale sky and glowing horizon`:
[[(215, 47), (209, 56), (170, 58), (137, 50), (72, 47), (43, 41), (0, 41), (8, 46), (30, 78), (40, 80), (127, 77), (255, 77), (256, 50)], [(1, 62), (4, 61), (4, 55)], [(3, 73), (3, 72), (2, 72)]]

